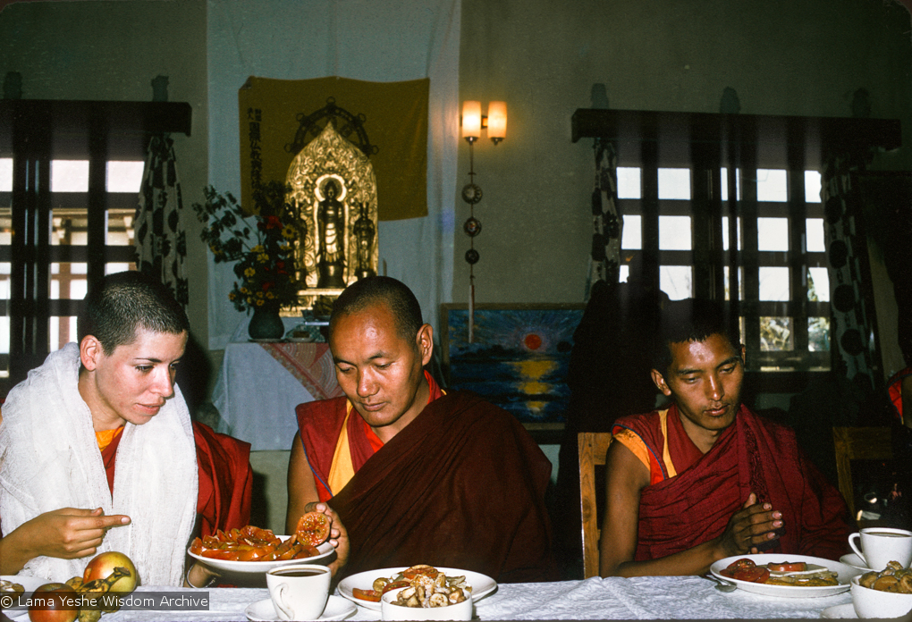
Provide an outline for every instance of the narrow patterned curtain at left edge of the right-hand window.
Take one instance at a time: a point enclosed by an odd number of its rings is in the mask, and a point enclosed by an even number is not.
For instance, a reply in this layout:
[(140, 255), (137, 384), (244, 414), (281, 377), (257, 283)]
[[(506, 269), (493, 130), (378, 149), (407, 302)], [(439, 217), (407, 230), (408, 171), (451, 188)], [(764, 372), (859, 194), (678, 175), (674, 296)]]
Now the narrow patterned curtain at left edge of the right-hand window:
[(592, 191), (592, 254), (586, 300), (597, 281), (616, 284), (620, 272), (623, 216), (617, 213), (617, 153), (611, 140), (596, 139), (596, 183)]

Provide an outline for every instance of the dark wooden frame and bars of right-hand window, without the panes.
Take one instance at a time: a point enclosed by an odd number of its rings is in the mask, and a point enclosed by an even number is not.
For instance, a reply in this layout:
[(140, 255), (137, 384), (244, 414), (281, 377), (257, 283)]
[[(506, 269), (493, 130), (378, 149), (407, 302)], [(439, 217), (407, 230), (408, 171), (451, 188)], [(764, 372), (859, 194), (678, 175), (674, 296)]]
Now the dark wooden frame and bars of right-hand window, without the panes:
[[(829, 153), (896, 149), (901, 143), (899, 121), (577, 109), (572, 132), (574, 142), (586, 138), (613, 141), (617, 165), (638, 167), (641, 171), (641, 198), (622, 199), (618, 204), (622, 213), (642, 216), (643, 277), (658, 286), (660, 265), (687, 264), (693, 268), (694, 296), (721, 301), (728, 285), (731, 301), (727, 304), (733, 316), (743, 318), (746, 367), (752, 376), (762, 377), (757, 383), (760, 390), (766, 392), (764, 389), (772, 387), (777, 391), (800, 390), (816, 373), (809, 371), (813, 362), (824, 358), (808, 351), (808, 318), (830, 315), (828, 303), (807, 300), (806, 271), (808, 267), (825, 266), (826, 262), (824, 253), (806, 252), (806, 218), (809, 212), (814, 212), (812, 217), (822, 216), (824, 206), (821, 204), (817, 213), (816, 207), (809, 207), (805, 202), (803, 171), (823, 171)], [(689, 202), (658, 198), (659, 168), (691, 171)], [(716, 190), (721, 187), (722, 169), (727, 170), (728, 176), (726, 201)], [(757, 176), (751, 174), (758, 169), (789, 171), (787, 202), (758, 201)], [(737, 171), (742, 173), (740, 184), (736, 184)], [(736, 190), (739, 186), (740, 197)], [(775, 256), (779, 253), (758, 250), (757, 227), (750, 226), (757, 223), (758, 216), (777, 212), (790, 223), (790, 251), (784, 261)], [(658, 217), (676, 213), (692, 218), (693, 250), (660, 251)], [(729, 216), (727, 250), (721, 244), (724, 215)], [(738, 219), (741, 219), (740, 251)], [(790, 270), (790, 300), (761, 301), (759, 269), (776, 264), (784, 264)], [(728, 284), (724, 281), (723, 266), (729, 267)], [(742, 299), (738, 299), (739, 291), (743, 291)], [(789, 354), (761, 351), (762, 316), (793, 318), (793, 351)], [(793, 371), (761, 372), (762, 368), (772, 368), (777, 361), (790, 356), (796, 359), (792, 361)]]

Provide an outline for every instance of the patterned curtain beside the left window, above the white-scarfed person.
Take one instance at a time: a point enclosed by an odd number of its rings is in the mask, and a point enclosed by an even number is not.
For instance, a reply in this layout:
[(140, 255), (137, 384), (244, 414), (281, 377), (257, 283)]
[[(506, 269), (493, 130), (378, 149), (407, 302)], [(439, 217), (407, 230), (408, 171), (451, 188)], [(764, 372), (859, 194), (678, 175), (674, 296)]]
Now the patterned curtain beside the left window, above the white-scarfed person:
[(142, 173), (140, 200), (133, 229), (136, 266), (171, 287), (178, 302), (187, 306), (186, 232), (181, 226), (181, 182), (177, 177), (173, 141), (167, 134), (153, 136)]

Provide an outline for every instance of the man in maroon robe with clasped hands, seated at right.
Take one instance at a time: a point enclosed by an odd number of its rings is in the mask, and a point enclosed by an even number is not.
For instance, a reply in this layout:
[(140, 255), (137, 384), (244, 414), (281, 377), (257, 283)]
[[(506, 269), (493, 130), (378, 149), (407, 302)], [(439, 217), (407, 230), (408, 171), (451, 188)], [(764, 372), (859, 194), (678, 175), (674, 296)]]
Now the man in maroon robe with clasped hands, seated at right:
[(729, 327), (714, 303), (666, 304), (651, 373), (672, 404), (615, 422), (602, 576), (702, 575), (734, 555), (847, 552), (840, 493), (792, 430), (741, 404), (744, 347)]

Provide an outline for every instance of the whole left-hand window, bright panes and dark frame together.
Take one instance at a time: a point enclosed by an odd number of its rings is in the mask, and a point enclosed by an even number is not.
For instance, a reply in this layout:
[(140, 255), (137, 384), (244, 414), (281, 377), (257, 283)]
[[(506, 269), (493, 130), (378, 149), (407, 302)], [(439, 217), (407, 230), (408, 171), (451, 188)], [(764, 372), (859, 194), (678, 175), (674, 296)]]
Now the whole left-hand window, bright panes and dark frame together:
[(0, 396), (76, 339), (89, 284), (133, 266), (148, 131), (187, 104), (0, 101)]

